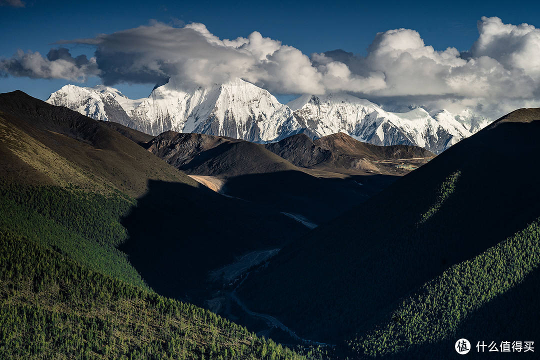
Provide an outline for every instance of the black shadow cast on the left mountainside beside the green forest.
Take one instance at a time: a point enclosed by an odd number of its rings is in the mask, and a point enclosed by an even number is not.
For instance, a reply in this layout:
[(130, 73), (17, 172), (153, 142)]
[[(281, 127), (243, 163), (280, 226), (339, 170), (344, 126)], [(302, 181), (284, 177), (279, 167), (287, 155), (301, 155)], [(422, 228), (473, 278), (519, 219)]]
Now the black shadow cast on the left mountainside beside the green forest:
[(122, 220), (129, 239), (120, 249), (165, 296), (186, 299), (204, 289), (208, 271), (308, 231), (285, 215), (205, 187), (154, 180), (148, 187)]

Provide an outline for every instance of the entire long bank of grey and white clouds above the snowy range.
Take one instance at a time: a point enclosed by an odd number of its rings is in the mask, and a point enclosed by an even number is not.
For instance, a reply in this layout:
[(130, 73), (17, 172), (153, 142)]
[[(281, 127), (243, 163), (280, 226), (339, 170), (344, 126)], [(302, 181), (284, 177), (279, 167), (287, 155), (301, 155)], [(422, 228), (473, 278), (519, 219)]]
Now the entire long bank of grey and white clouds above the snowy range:
[(209, 86), (242, 78), (281, 94), (349, 92), (383, 104), (467, 106), (487, 116), (499, 114), (505, 104), (536, 104), (540, 30), (483, 17), (478, 33), (465, 52), (437, 51), (417, 31), (394, 29), (377, 33), (366, 56), (334, 50), (308, 57), (257, 31), (220, 39), (204, 24), (177, 28), (154, 22), (59, 42), (95, 46), (90, 59), (73, 58), (64, 47), (46, 58), (19, 51), (0, 60), (0, 71), (66, 79), (99, 76), (106, 85), (161, 84), (174, 77), (177, 83)]

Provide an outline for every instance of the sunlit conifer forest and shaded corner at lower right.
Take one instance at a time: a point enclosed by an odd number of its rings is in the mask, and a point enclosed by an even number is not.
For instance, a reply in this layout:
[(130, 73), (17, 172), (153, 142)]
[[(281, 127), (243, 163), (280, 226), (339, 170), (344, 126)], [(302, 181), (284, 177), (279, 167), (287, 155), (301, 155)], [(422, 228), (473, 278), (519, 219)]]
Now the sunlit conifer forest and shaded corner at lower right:
[(414, 290), (377, 325), (357, 330), (365, 335), (349, 346), (360, 357), (416, 351), (443, 358), (449, 348), (433, 346), (443, 339), (539, 341), (539, 250), (540, 219)]

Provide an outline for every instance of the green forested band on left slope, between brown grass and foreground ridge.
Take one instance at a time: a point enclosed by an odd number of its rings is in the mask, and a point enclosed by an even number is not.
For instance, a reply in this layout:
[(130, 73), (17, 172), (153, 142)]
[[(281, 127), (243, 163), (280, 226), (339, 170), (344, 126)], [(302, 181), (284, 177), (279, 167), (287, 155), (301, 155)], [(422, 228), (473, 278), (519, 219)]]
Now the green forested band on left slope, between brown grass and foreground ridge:
[(116, 247), (126, 240), (120, 217), (133, 199), (104, 196), (58, 186), (0, 187), (0, 229), (9, 229), (100, 273), (144, 286), (126, 254)]

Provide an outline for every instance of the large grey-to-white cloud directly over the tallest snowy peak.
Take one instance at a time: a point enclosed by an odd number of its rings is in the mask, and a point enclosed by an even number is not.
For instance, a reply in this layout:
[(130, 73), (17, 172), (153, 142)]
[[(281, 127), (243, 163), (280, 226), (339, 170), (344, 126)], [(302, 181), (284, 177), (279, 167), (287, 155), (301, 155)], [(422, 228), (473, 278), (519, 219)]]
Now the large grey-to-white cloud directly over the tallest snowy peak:
[(97, 47), (96, 60), (106, 85), (161, 83), (174, 77), (209, 86), (242, 78), (281, 93), (325, 91), (309, 57), (257, 31), (247, 38), (222, 40), (200, 23), (183, 28), (155, 23), (72, 43)]

